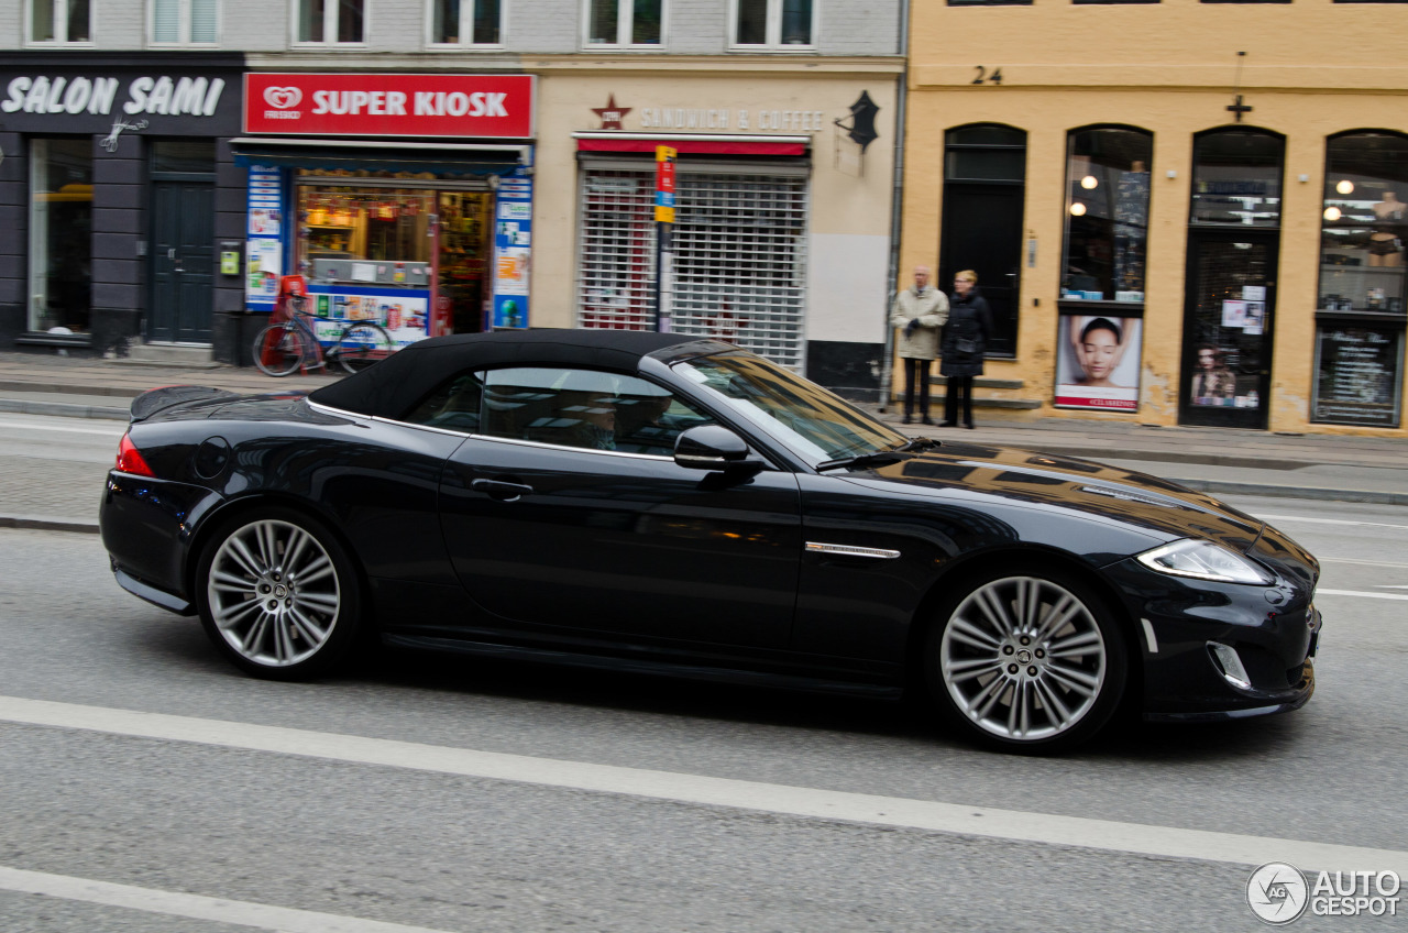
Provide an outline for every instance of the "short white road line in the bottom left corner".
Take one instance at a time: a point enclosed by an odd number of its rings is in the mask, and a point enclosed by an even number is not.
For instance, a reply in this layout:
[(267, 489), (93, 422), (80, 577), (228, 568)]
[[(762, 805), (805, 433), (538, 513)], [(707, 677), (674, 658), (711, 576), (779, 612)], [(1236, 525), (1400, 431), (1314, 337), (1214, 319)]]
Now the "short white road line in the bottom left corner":
[(294, 908), (276, 908), (251, 901), (227, 901), (206, 898), (199, 894), (159, 891), (156, 888), (135, 888), (115, 885), (107, 881), (51, 875), (42, 871), (24, 871), (0, 865), (0, 889), (38, 894), (63, 901), (86, 901), (110, 908), (128, 908), (146, 913), (191, 917), (211, 923), (234, 923), (253, 926), (280, 933), (442, 933), (424, 926), (362, 920), (337, 913), (318, 913)]

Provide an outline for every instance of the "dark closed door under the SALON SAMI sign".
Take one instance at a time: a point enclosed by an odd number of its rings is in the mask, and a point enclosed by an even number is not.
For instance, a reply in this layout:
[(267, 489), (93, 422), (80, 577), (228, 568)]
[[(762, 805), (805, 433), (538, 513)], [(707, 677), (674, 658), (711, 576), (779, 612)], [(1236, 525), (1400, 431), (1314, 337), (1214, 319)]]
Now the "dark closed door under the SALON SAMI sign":
[(214, 300), (215, 187), (152, 183), (152, 297), (146, 340), (208, 344)]

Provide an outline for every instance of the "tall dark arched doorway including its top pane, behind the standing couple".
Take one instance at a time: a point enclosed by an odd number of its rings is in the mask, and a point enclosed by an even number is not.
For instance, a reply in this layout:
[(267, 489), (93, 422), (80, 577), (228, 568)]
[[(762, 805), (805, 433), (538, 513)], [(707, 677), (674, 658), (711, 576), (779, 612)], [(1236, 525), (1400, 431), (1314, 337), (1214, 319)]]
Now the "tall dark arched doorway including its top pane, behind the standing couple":
[(945, 134), (939, 288), (952, 289), (962, 269), (977, 272), (995, 328), (990, 357), (1017, 354), (1025, 192), (1026, 132), (976, 124)]

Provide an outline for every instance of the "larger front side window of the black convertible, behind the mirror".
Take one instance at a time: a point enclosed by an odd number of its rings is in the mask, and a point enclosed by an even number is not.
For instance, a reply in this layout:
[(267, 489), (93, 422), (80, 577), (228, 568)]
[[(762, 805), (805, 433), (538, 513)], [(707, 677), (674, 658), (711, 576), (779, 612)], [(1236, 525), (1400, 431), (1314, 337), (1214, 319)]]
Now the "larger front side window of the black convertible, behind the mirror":
[(546, 366), (484, 376), (480, 433), (490, 437), (670, 457), (680, 431), (710, 423), (667, 389), (635, 376)]

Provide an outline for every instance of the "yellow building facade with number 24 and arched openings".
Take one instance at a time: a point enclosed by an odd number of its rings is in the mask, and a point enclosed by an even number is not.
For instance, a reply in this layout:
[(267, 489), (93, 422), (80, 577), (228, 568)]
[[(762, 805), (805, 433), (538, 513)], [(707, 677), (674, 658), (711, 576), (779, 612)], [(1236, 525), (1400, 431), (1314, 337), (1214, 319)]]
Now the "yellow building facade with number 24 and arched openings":
[(915, 4), (901, 254), (979, 272), (980, 402), (1404, 434), (1405, 14)]

